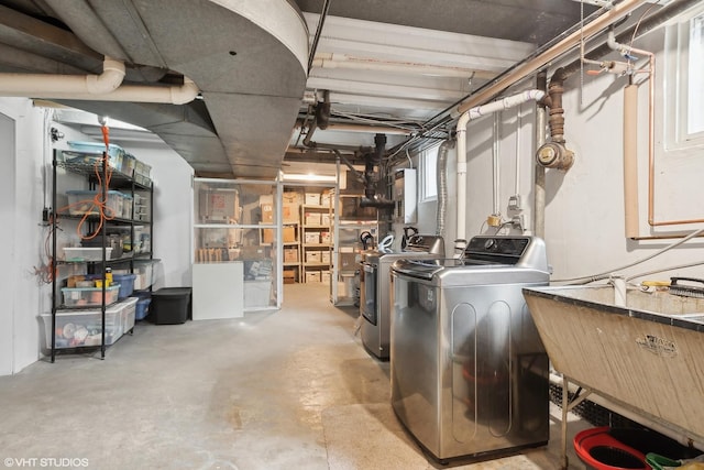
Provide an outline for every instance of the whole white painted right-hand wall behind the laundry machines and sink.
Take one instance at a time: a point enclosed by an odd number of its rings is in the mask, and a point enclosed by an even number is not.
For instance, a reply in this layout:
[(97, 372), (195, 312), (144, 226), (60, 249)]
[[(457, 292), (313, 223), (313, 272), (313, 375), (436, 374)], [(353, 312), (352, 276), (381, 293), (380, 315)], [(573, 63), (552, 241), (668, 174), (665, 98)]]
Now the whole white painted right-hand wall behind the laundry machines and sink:
[[(651, 32), (634, 44), (658, 53), (656, 102), (656, 207), (661, 219), (674, 217), (704, 217), (701, 201), (704, 186), (704, 159), (701, 150), (690, 155), (666, 155), (662, 145), (663, 127), (663, 32)], [(610, 57), (609, 57), (610, 58)], [(613, 57), (618, 59), (618, 56)], [(575, 163), (566, 173), (549, 170), (547, 174), (546, 242), (553, 280), (593, 275), (612, 271), (641, 260), (676, 240), (632, 241), (624, 236), (623, 189), (623, 87), (626, 78), (613, 75), (585, 76), (580, 102), (580, 77), (574, 74), (565, 83), (565, 138), (568, 147), (575, 152)], [(527, 87), (530, 86), (526, 85)], [(647, 225), (647, 86), (639, 91), (639, 176), (641, 236), (682, 233), (702, 226), (680, 226), (651, 229)], [(528, 111), (524, 105), (524, 111)], [(532, 218), (534, 142), (532, 116), (524, 117), (519, 151), (519, 186), (527, 222)], [(508, 216), (508, 197), (515, 189), (516, 111), (502, 113), (501, 125), (501, 212)], [(468, 127), (468, 201), (466, 233), (487, 231), (484, 222), (492, 212), (492, 129), (493, 117), (473, 121)], [(454, 174), (450, 174), (451, 178)], [(676, 175), (676, 176), (673, 176)], [(453, 200), (453, 199), (451, 199)], [(453, 206), (453, 205), (451, 205)], [(424, 223), (435, 217), (432, 208), (424, 210)], [(452, 209), (451, 209), (452, 210)], [(451, 216), (454, 219), (454, 216)], [(528, 229), (532, 229), (528, 225)], [(492, 231), (490, 231), (492, 232)], [(704, 242), (690, 241), (645, 264), (625, 272), (641, 272), (673, 266), (686, 262), (704, 261)], [(678, 270), (679, 275), (704, 277), (704, 267)], [(674, 272), (651, 275), (649, 278), (669, 278)]]

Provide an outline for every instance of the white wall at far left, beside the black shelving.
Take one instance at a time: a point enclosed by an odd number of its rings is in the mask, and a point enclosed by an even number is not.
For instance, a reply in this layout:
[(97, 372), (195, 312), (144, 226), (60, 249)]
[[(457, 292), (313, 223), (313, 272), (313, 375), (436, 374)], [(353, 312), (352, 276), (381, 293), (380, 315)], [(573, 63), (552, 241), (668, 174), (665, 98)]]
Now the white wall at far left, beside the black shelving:
[(6, 248), (0, 278), (1, 375), (38, 359), (37, 315), (51, 307), (51, 300), (50, 289), (34, 275), (34, 269), (46, 261), (41, 255), (46, 232), (38, 225), (44, 207), (43, 160), (48, 154), (42, 131), (44, 112), (23, 98), (0, 98), (0, 113), (14, 124), (14, 149), (3, 142), (0, 176), (0, 242)]

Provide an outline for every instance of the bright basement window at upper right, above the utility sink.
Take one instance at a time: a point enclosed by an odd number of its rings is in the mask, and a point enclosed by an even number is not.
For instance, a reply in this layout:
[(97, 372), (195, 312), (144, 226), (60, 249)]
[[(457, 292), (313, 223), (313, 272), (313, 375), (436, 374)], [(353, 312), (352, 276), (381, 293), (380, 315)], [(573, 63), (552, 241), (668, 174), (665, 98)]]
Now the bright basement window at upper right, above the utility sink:
[(704, 6), (668, 26), (664, 83), (668, 150), (704, 146)]

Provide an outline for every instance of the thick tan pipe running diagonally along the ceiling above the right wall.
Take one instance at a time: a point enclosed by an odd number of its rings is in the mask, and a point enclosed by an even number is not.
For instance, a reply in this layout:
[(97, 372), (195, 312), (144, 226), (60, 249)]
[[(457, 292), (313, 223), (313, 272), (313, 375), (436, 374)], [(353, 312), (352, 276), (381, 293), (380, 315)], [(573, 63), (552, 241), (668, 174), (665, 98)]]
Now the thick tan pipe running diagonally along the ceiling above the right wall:
[(504, 91), (506, 88), (510, 87), (512, 85), (516, 84), (517, 81), (521, 80), (522, 78), (527, 77), (528, 75), (538, 70), (539, 68), (543, 67), (551, 61), (560, 57), (562, 54), (566, 53), (571, 48), (579, 46), (580, 41), (582, 39), (588, 39), (593, 36), (594, 34), (598, 33), (603, 28), (606, 28), (609, 24), (613, 24), (614, 22), (626, 17), (628, 13), (630, 13), (632, 10), (640, 7), (645, 2), (646, 0), (624, 0), (623, 2), (618, 3), (617, 6), (612, 8), (609, 11), (607, 11), (606, 13), (597, 18), (596, 20), (584, 25), (583, 29), (575, 31), (574, 33), (570, 34), (569, 36), (560, 41), (554, 46), (550, 47), (544, 53), (538, 55), (531, 61), (526, 62), (525, 64), (517, 66), (516, 68), (510, 70), (510, 73), (498, 78), (491, 86), (470, 96), (466, 101), (461, 102), (452, 111), (453, 118), (457, 118), (458, 116), (463, 114), (471, 108), (474, 108), (476, 106), (487, 102), (493, 97)]

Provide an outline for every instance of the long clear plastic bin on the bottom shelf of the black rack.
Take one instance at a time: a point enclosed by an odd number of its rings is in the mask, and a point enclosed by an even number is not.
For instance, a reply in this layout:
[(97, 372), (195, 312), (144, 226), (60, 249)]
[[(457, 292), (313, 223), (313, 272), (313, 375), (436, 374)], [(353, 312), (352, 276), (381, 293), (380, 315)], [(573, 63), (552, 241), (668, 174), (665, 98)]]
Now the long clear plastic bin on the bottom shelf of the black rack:
[[(106, 345), (112, 345), (124, 332), (120, 305), (106, 308)], [(52, 347), (52, 314), (42, 314), (46, 348)], [(102, 313), (100, 309), (67, 310), (56, 314), (56, 349), (100, 346)]]

